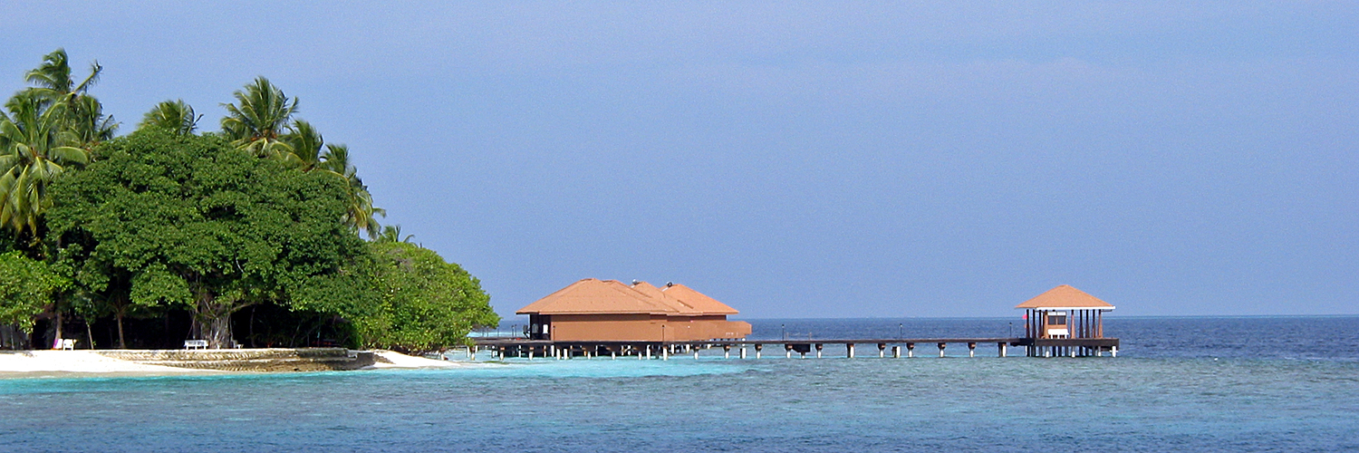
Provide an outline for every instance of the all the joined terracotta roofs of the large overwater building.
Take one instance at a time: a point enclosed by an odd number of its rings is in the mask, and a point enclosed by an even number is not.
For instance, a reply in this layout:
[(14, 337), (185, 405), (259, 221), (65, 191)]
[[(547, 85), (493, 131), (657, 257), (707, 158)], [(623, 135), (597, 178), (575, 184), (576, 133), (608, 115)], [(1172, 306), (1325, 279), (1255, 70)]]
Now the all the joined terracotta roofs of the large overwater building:
[(516, 314), (737, 314), (735, 309), (682, 284), (583, 279), (515, 312)]

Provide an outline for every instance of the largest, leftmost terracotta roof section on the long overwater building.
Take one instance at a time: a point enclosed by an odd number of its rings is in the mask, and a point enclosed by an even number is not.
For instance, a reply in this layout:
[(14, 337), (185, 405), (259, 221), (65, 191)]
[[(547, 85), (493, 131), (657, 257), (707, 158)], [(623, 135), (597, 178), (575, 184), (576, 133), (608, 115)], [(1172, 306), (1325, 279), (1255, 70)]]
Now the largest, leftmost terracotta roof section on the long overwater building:
[(680, 314), (659, 299), (618, 280), (583, 279), (515, 312), (516, 314)]

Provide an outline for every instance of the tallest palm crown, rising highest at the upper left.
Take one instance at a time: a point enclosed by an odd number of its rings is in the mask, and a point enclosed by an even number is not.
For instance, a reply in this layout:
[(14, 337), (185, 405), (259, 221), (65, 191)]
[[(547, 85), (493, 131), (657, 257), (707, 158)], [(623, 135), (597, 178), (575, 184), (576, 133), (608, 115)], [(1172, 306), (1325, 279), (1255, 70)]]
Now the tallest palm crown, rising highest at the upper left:
[(99, 82), (103, 67), (99, 61), (90, 64), (90, 75), (80, 83), (71, 79), (71, 61), (65, 49), (57, 49), (42, 57), (42, 64), (24, 73), (24, 79), (34, 84), (33, 91), (45, 102), (41, 107), (61, 109), (61, 127), (75, 133), (75, 140), (83, 147), (92, 148), (99, 141), (113, 139), (118, 124), (113, 117), (103, 114), (103, 105), (99, 99), (87, 94), (90, 87)]

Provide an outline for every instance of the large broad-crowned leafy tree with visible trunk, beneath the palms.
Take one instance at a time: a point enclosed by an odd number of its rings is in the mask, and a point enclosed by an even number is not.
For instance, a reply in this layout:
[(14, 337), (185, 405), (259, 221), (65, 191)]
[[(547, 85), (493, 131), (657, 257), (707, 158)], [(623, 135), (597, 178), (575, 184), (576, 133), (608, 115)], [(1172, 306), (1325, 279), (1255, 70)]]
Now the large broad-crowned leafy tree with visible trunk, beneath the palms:
[[(82, 272), (126, 272), (132, 303), (179, 303), (197, 337), (232, 344), (231, 314), (261, 302), (314, 305), (307, 287), (363, 256), (340, 222), (337, 178), (261, 161), (217, 136), (141, 129), (53, 188), (49, 238), (83, 244)], [(98, 279), (77, 276), (82, 282)], [(101, 290), (92, 287), (91, 290)]]

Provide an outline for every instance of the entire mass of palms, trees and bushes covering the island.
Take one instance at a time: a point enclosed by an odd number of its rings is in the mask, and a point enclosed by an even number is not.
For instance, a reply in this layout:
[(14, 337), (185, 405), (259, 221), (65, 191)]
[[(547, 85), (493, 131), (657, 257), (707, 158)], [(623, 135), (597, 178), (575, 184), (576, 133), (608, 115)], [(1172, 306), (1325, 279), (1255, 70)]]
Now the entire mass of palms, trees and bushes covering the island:
[(0, 254), (0, 328), (61, 337), (75, 318), (107, 344), (91, 326), (111, 318), (118, 347), (128, 324), (154, 347), (425, 351), (499, 322), (459, 265), (389, 239), (397, 227), (379, 239), (385, 212), (349, 148), (294, 118), (298, 101), (269, 80), (235, 93), (222, 133), (166, 101), (114, 137), (87, 94), (101, 71), (76, 83), (57, 50), (0, 112), (0, 252), (14, 250)]

